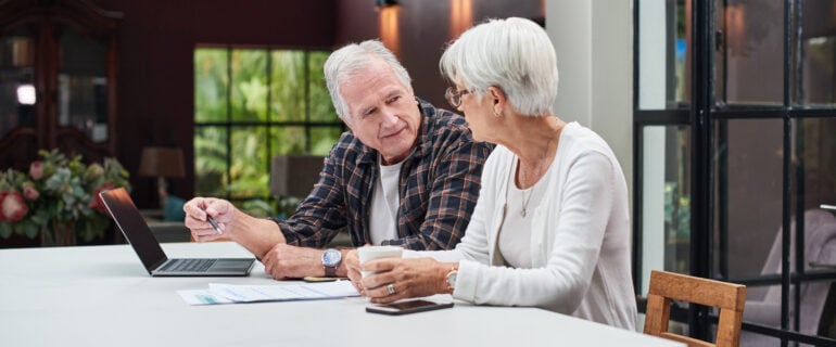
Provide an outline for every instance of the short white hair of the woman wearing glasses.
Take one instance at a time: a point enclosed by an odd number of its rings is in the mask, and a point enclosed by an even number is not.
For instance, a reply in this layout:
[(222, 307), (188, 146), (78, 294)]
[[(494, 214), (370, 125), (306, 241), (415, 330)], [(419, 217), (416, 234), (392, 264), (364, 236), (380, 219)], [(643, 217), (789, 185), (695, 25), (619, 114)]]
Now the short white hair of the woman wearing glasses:
[(511, 107), (529, 116), (552, 111), (557, 98), (557, 54), (532, 21), (509, 17), (477, 25), (453, 42), (439, 63), (441, 74), (478, 98), (502, 89)]

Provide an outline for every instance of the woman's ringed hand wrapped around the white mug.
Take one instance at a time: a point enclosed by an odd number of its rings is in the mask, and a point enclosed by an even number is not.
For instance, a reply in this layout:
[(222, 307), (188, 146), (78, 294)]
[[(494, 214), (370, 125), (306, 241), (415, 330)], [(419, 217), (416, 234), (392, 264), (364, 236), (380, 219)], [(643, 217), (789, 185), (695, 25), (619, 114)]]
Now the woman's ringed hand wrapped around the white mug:
[(453, 265), (432, 258), (384, 258), (364, 264), (360, 269), (375, 274), (360, 280), (360, 294), (371, 303), (385, 304), (409, 297), (447, 292), (447, 273)]

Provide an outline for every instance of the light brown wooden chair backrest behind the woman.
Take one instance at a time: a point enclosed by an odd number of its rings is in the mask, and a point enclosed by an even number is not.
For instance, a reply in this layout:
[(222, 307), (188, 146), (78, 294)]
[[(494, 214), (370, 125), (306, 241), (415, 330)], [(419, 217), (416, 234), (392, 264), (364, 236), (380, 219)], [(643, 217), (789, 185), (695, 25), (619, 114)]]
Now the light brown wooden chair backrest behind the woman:
[[(720, 308), (715, 344), (668, 332), (671, 299)], [(692, 347), (737, 346), (745, 305), (745, 285), (654, 270), (650, 272), (644, 332), (682, 342)]]

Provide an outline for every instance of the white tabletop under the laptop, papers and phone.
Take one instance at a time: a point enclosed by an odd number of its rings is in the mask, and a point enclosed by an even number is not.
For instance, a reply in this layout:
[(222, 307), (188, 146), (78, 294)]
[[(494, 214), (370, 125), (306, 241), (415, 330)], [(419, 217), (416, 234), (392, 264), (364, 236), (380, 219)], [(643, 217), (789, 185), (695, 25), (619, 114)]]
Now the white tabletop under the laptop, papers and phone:
[[(249, 256), (232, 243), (163, 245), (169, 257)], [(535, 308), (456, 303), (389, 317), (365, 298), (189, 306), (178, 290), (246, 278), (151, 278), (126, 245), (0, 249), (2, 346), (682, 346)], [(449, 300), (449, 296), (441, 296)]]

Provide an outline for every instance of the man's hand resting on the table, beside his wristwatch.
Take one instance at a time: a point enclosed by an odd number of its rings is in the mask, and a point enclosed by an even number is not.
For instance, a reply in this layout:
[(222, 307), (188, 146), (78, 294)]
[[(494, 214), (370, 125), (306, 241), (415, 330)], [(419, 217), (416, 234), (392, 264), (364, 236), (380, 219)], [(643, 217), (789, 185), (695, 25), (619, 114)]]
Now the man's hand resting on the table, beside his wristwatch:
[(299, 279), (306, 275), (321, 277), (322, 249), (277, 244), (262, 258), (264, 272), (276, 280)]

